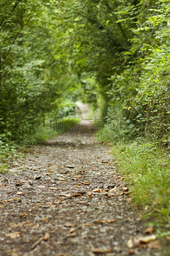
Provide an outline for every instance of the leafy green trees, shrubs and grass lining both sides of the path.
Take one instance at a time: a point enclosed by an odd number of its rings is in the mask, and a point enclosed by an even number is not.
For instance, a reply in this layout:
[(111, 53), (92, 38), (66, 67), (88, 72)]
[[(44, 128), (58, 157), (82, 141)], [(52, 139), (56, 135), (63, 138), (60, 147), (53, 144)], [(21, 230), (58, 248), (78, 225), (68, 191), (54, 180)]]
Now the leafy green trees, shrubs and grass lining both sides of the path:
[(80, 100), (115, 134), (106, 142), (135, 204), (169, 222), (169, 1), (3, 0), (0, 9), (1, 156), (47, 139), (48, 117), (74, 116)]

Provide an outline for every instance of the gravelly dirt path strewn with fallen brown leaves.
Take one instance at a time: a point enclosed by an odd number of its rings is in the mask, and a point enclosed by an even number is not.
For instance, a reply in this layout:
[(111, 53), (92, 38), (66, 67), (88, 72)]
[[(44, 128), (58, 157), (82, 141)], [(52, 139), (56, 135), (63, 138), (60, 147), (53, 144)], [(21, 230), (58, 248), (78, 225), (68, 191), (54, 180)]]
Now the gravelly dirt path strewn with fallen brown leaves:
[(0, 255), (150, 255), (126, 245), (144, 227), (107, 145), (55, 139), (16, 162), (0, 177)]

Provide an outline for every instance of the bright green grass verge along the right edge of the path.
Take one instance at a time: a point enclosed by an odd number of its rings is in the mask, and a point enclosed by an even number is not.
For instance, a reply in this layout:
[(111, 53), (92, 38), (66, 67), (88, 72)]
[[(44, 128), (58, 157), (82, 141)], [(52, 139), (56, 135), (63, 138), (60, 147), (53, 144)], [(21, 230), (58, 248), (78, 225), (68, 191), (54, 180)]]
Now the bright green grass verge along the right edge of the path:
[(170, 155), (152, 143), (117, 143), (113, 147), (119, 170), (130, 183), (130, 197), (146, 215), (170, 223)]

